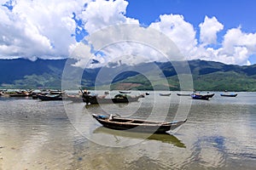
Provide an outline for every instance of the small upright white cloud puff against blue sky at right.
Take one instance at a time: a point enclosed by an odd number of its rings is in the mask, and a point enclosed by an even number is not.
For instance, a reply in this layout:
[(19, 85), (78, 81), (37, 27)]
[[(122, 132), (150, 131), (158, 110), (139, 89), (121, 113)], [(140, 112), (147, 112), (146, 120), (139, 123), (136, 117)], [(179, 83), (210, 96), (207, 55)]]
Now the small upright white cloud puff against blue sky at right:
[(207, 16), (200, 25), (200, 40), (204, 45), (212, 44), (217, 42), (217, 32), (223, 30), (224, 26), (218, 22), (215, 17), (211, 19)]

